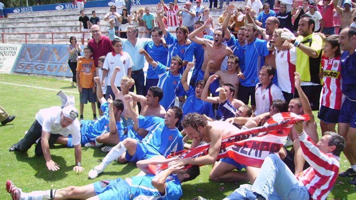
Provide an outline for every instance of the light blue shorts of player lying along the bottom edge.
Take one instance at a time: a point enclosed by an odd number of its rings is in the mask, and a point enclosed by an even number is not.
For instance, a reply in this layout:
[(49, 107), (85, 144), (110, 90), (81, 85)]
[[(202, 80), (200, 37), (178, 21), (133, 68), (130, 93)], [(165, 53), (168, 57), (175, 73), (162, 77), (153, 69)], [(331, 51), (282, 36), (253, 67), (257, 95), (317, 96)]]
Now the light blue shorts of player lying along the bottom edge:
[(101, 200), (129, 199), (131, 186), (124, 179), (101, 180), (93, 183), (95, 194)]

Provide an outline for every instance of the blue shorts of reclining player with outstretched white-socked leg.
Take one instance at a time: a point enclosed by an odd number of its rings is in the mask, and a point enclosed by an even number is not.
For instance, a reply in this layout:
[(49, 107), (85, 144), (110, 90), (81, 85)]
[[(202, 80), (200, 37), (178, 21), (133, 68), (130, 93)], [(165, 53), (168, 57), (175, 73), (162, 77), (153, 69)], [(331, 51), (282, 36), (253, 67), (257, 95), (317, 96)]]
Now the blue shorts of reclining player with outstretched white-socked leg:
[(146, 144), (143, 144), (141, 141), (137, 141), (136, 153), (133, 156), (130, 156), (126, 152), (126, 160), (131, 163), (136, 163), (139, 160), (147, 160), (155, 156), (162, 156), (158, 151), (148, 147)]

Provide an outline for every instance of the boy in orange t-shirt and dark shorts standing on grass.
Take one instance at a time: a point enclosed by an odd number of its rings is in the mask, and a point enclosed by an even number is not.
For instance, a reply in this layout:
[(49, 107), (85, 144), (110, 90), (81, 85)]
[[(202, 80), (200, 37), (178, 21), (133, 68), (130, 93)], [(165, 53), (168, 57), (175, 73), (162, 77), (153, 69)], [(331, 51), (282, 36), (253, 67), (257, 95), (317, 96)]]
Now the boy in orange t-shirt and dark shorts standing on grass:
[(96, 120), (96, 94), (95, 94), (95, 65), (91, 58), (93, 49), (90, 46), (84, 48), (84, 58), (78, 60), (77, 64), (77, 85), (80, 97), (80, 120), (83, 120), (84, 104), (91, 102), (91, 109), (93, 110), (93, 118)]

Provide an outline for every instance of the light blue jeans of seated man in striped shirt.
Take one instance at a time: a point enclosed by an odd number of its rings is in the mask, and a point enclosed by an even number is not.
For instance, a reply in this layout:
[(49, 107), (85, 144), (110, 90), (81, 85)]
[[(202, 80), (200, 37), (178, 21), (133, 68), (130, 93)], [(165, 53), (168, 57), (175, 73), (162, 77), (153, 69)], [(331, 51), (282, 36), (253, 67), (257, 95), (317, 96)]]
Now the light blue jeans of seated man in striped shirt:
[(310, 198), (307, 188), (275, 154), (269, 154), (266, 157), (261, 166), (261, 172), (252, 186), (241, 185), (224, 200), (256, 199), (257, 195), (271, 200), (309, 200)]

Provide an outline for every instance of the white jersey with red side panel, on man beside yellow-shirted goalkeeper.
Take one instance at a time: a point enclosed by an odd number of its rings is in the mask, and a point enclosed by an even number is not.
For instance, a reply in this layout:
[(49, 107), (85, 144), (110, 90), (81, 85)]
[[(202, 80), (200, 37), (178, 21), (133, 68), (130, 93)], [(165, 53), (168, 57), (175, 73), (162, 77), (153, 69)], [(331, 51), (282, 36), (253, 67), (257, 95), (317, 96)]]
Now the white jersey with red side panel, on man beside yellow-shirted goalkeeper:
[(278, 87), (284, 92), (292, 93), (294, 91), (295, 61), (297, 60), (295, 47), (279, 52), (276, 49), (275, 54)]

